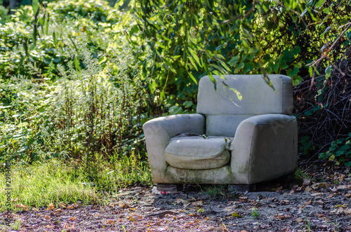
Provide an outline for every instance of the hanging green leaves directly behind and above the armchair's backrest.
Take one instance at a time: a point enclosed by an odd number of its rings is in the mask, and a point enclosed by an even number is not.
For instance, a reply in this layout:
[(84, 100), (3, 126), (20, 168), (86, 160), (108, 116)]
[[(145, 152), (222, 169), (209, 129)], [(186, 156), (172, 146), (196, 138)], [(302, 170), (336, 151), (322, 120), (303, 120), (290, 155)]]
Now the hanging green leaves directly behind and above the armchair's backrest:
[(287, 74), (302, 81), (305, 61), (319, 53), (306, 43), (306, 22), (295, 13), (301, 7), (294, 1), (140, 0), (131, 34), (152, 51), (145, 67), (150, 88), (169, 104), (194, 102), (205, 74)]

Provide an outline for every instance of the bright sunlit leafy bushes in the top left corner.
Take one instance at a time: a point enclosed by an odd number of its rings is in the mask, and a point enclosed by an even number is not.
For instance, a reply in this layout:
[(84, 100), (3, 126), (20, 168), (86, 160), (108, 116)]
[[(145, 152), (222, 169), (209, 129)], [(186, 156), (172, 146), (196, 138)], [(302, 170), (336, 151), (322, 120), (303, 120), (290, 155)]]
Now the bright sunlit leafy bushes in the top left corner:
[[(73, 11), (63, 11), (66, 2), (51, 3), (47, 8), (41, 6), (37, 20), (34, 20), (32, 6), (21, 6), (15, 11), (11, 20), (2, 22), (0, 27), (2, 79), (28, 73), (33, 78), (57, 79), (57, 65), (65, 65), (67, 61), (72, 60), (72, 57), (67, 56), (68, 49), (76, 49), (79, 44), (87, 44), (95, 57), (100, 57), (107, 49), (114, 31), (105, 19), (112, 8), (105, 1), (98, 1), (98, 4), (95, 4), (95, 1), (69, 1), (68, 5), (81, 8), (81, 13), (84, 9), (90, 9), (84, 12), (100, 15), (96, 17), (91, 15), (91, 18), (83, 18), (81, 15), (70, 17), (68, 13)], [(112, 22), (116, 22), (115, 16), (111, 15)], [(34, 26), (37, 27), (35, 33)], [(37, 71), (33, 71), (30, 68), (32, 66)]]

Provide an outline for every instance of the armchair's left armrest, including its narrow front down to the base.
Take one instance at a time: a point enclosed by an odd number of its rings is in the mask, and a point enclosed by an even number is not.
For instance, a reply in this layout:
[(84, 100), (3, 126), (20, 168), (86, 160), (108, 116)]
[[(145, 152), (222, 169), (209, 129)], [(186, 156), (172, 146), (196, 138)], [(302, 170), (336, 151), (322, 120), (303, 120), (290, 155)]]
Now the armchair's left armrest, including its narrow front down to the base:
[(178, 114), (154, 118), (143, 125), (147, 155), (154, 182), (165, 183), (167, 163), (164, 158), (169, 139), (186, 132), (203, 135), (205, 116), (202, 114)]

